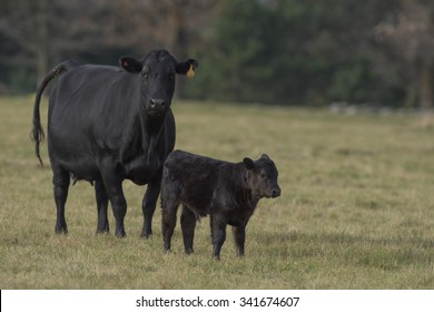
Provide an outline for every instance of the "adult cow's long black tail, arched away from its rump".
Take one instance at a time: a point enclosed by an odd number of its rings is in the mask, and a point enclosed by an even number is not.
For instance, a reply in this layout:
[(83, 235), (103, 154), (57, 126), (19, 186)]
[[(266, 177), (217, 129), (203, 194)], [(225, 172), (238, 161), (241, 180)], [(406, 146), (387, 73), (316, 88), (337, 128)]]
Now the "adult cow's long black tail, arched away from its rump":
[(34, 98), (34, 107), (33, 107), (33, 128), (31, 129), (30, 138), (34, 143), (34, 152), (36, 152), (36, 155), (37, 155), (41, 166), (43, 166), (43, 163), (42, 163), (41, 156), (39, 154), (39, 145), (41, 143), (43, 143), (46, 135), (43, 133), (42, 125), (41, 125), (39, 106), (40, 106), (43, 90), (46, 89), (46, 87), (48, 86), (48, 84), (52, 79), (55, 79), (56, 77), (62, 75), (63, 72), (68, 71), (70, 68), (73, 68), (76, 66), (77, 66), (77, 62), (75, 62), (72, 60), (66, 60), (66, 61), (59, 64), (58, 66), (56, 66), (55, 69), (51, 70), (50, 74), (48, 74), (43, 78), (42, 82), (38, 87), (36, 98)]

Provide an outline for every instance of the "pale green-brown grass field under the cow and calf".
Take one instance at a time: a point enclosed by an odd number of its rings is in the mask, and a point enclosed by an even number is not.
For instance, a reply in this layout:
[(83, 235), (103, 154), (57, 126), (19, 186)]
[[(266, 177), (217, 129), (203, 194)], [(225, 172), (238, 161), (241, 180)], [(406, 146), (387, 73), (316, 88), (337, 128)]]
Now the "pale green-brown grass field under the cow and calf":
[(154, 236), (140, 238), (145, 188), (129, 182), (126, 238), (95, 234), (87, 183), (70, 188), (69, 234), (55, 235), (47, 145), (41, 168), (29, 139), (32, 100), (0, 98), (0, 289), (434, 289), (430, 116), (174, 103), (177, 148), (231, 162), (267, 153), (279, 169), (283, 194), (259, 202), (246, 256), (228, 235), (217, 263), (207, 218), (191, 256), (179, 224), (164, 254), (159, 208)]

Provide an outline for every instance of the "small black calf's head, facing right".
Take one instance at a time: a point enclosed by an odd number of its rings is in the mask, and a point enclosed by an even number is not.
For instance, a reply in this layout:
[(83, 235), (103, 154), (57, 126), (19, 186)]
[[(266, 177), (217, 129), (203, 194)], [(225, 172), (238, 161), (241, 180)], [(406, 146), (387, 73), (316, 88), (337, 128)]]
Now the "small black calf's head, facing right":
[(254, 196), (258, 198), (280, 196), (276, 165), (266, 154), (255, 162), (246, 157), (243, 164), (247, 169), (246, 182)]

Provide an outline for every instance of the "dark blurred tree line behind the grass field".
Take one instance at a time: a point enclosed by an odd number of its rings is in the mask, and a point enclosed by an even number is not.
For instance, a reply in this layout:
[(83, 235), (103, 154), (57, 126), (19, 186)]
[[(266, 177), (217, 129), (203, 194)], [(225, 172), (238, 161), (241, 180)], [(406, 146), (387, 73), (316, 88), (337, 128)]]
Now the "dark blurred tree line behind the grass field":
[(178, 97), (434, 106), (431, 0), (0, 0), (0, 94), (161, 47), (199, 60)]

